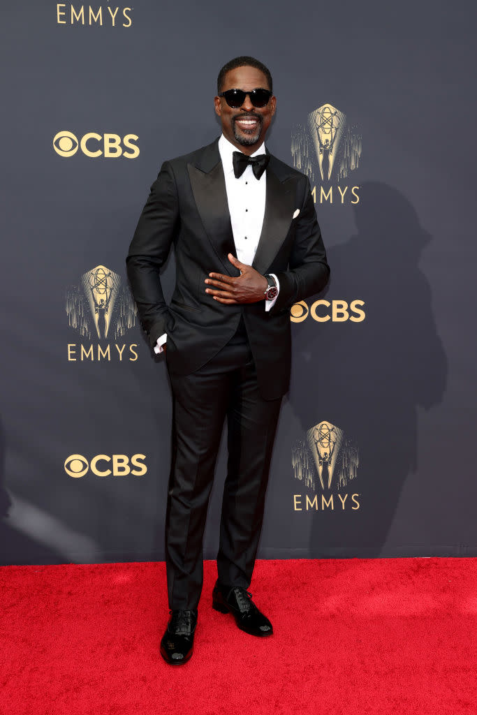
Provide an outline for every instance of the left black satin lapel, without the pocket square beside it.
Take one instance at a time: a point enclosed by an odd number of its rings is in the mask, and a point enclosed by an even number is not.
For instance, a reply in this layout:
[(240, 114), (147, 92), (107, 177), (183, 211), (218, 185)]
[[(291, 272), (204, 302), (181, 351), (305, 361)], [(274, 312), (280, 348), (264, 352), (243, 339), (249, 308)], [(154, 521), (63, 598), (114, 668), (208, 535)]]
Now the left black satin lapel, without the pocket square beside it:
[(203, 172), (187, 164), (187, 171), (197, 211), (217, 257), (229, 275), (238, 275), (227, 258), (228, 253), (235, 255), (235, 244), (222, 162), (219, 158), (210, 172)]

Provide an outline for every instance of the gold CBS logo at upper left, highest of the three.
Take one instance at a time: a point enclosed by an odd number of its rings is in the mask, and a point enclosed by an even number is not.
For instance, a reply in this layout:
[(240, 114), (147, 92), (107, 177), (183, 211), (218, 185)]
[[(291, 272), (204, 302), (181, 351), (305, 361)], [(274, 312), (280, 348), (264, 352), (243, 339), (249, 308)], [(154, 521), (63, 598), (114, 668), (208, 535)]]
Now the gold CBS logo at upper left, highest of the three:
[(72, 132), (58, 132), (53, 137), (53, 148), (60, 157), (72, 157), (77, 153), (79, 147), (83, 154), (92, 159), (101, 156), (106, 159), (115, 159), (121, 156), (126, 159), (135, 159), (139, 157), (139, 147), (134, 144), (137, 139), (139, 137), (136, 134), (126, 134), (121, 139), (119, 134), (88, 132), (78, 141)]

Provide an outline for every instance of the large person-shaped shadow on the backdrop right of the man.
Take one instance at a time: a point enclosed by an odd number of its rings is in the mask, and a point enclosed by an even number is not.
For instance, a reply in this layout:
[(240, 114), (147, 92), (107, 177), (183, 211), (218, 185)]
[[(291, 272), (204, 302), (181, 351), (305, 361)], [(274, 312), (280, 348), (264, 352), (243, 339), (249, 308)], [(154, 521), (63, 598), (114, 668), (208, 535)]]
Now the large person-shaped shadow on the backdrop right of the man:
[[(325, 297), (364, 300), (365, 320), (319, 325), (308, 317), (306, 329), (297, 326), (293, 337), (290, 405), (303, 436), (326, 420), (359, 452), (355, 478), (339, 490), (349, 495), (348, 511), (338, 499), (338, 469), (330, 489), (322, 488), (318, 471), (314, 488), (294, 479), (303, 500), (318, 494), (320, 503), (322, 494), (334, 493), (337, 503), (338, 513), (325, 508), (313, 515), (312, 556), (339, 556), (340, 548), (380, 556), (403, 482), (408, 475), (418, 479), (418, 408), (440, 403), (446, 387), (431, 290), (418, 267), (431, 236), (396, 189), (369, 182), (360, 197), (358, 233), (328, 251), (332, 280)], [(352, 515), (353, 493), (360, 495), (360, 510)]]

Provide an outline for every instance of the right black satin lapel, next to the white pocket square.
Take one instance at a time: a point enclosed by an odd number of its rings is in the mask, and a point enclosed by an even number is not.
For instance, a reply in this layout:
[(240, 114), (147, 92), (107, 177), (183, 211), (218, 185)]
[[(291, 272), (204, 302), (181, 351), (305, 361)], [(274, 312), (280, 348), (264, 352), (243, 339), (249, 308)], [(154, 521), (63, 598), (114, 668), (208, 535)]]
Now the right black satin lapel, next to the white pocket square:
[(259, 273), (265, 273), (270, 267), (290, 229), (295, 210), (295, 191), (292, 189), (295, 186), (290, 179), (282, 183), (270, 168), (267, 169), (265, 215), (252, 263)]

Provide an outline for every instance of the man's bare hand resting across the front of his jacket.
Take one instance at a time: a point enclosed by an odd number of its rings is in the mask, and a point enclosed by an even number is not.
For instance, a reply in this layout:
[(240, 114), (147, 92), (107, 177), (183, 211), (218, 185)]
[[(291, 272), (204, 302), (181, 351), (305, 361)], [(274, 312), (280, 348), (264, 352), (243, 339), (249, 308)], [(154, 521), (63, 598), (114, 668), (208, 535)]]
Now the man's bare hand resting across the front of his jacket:
[(206, 293), (212, 295), (214, 300), (227, 305), (236, 305), (237, 303), (256, 303), (259, 300), (265, 299), (265, 290), (267, 290), (267, 279), (261, 273), (247, 266), (245, 263), (240, 263), (231, 253), (228, 259), (235, 268), (240, 270), (241, 275), (237, 278), (232, 278), (230, 275), (222, 275), (222, 273), (209, 273), (209, 277), (205, 280), (208, 285), (213, 285), (215, 289), (207, 288)]

